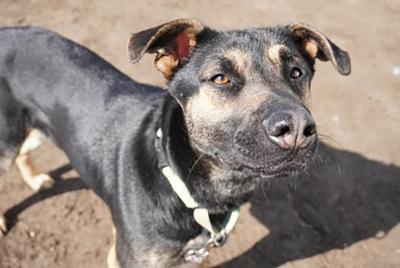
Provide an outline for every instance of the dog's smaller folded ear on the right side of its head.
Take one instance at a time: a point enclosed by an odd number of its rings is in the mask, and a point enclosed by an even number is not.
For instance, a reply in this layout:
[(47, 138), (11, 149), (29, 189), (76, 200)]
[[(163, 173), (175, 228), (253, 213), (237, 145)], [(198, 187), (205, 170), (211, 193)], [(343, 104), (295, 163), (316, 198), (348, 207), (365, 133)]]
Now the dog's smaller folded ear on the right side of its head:
[(350, 74), (349, 54), (332, 43), (324, 34), (302, 23), (289, 24), (287, 28), (312, 60), (316, 58), (323, 61), (330, 60), (340, 74)]

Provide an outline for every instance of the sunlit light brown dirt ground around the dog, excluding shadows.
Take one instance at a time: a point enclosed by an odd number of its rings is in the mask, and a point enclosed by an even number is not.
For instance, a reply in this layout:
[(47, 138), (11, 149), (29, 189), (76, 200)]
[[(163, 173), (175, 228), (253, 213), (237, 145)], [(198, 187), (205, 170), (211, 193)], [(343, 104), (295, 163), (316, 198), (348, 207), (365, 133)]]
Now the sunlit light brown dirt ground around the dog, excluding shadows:
[[(151, 57), (129, 64), (128, 35), (182, 17), (218, 29), (306, 22), (349, 51), (353, 65), (342, 77), (317, 64), (312, 110), (329, 144), (322, 164), (292, 194), (284, 181), (266, 187), (267, 198), (256, 193), (210, 265), (400, 267), (399, 1), (0, 0), (0, 26), (53, 29), (158, 85)], [(15, 169), (1, 178), (0, 211), (12, 229), (0, 238), (0, 267), (106, 267), (107, 208), (54, 146), (34, 156), (57, 183), (34, 194)]]

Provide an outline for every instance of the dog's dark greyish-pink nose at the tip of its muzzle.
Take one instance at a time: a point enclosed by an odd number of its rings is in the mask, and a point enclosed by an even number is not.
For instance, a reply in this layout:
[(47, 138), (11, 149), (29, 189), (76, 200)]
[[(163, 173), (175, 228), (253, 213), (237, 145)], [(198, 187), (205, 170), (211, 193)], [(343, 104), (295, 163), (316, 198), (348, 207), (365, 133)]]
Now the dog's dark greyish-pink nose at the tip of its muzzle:
[(285, 150), (305, 148), (317, 136), (314, 120), (305, 109), (275, 111), (264, 119), (263, 125), (269, 139)]

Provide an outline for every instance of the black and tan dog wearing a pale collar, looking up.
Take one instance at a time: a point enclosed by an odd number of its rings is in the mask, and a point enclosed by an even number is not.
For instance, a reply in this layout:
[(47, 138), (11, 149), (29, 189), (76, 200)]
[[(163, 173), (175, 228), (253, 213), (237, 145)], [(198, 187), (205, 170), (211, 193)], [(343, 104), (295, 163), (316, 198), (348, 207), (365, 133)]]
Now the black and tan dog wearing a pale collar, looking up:
[(16, 160), (39, 190), (51, 178), (24, 141), (50, 137), (111, 209), (109, 264), (121, 267), (201, 262), (265, 180), (307, 169), (314, 61), (350, 73), (348, 54), (303, 24), (220, 32), (176, 20), (133, 34), (129, 53), (155, 53), (168, 89), (48, 30), (0, 30), (0, 174)]

